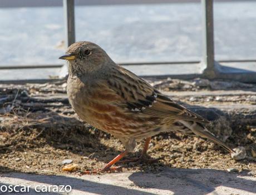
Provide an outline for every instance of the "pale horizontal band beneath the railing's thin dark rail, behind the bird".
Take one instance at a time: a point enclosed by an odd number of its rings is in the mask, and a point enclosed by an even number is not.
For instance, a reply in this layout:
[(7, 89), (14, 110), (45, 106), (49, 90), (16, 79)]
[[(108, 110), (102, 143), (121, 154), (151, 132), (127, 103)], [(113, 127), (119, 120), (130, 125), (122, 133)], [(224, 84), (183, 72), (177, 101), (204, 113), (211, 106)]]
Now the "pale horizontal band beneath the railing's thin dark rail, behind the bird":
[[(256, 83), (256, 61), (242, 63), (223, 63), (215, 65), (215, 74), (218, 79), (230, 79), (247, 83)], [(140, 64), (123, 65), (125, 68), (142, 77), (156, 78), (176, 78), (193, 79), (207, 78), (203, 74), (204, 65), (202, 63), (191, 64)], [(175, 66), (175, 68), (173, 68)], [(63, 66), (64, 67), (64, 66)], [(19, 83), (26, 80), (29, 83), (59, 80), (62, 68), (29, 68), (29, 69), (7, 69), (0, 70), (0, 83), (11, 82)], [(43, 81), (41, 81), (41, 79)]]

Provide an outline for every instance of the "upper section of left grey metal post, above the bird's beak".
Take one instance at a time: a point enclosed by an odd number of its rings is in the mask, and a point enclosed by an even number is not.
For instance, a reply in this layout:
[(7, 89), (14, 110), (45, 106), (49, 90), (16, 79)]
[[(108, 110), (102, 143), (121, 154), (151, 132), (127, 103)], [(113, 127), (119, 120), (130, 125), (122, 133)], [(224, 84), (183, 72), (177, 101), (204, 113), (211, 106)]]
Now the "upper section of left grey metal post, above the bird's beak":
[(63, 0), (65, 45), (75, 43), (75, 5), (74, 0)]

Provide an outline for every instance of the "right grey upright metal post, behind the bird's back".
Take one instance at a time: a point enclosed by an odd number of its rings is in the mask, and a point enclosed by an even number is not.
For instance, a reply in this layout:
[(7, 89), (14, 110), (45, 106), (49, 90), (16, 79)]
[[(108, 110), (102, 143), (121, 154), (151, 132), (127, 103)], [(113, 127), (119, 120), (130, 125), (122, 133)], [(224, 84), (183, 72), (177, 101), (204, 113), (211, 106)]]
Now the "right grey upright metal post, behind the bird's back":
[(214, 77), (214, 27), (213, 0), (201, 0), (203, 11), (203, 63), (206, 65), (204, 73)]

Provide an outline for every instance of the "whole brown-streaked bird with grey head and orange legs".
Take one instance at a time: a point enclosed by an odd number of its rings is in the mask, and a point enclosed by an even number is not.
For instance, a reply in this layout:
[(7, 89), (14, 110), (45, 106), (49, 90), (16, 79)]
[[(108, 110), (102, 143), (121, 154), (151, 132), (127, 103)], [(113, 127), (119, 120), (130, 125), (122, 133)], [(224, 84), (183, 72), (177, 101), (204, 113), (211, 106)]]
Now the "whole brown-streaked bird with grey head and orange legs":
[(125, 150), (104, 168), (93, 173), (111, 171), (112, 166), (132, 152), (136, 140), (161, 132), (181, 132), (217, 143), (234, 152), (208, 129), (210, 122), (178, 104), (147, 81), (116, 64), (99, 45), (81, 41), (70, 45), (59, 59), (68, 61), (67, 95), (77, 115), (88, 124), (118, 138)]

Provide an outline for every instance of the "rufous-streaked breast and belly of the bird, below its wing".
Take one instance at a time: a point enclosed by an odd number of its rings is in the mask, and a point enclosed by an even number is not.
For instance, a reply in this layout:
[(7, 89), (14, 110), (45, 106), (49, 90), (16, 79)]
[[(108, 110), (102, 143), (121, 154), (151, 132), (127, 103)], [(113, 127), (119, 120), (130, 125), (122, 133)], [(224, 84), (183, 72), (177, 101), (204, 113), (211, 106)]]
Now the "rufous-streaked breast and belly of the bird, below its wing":
[(68, 80), (68, 99), (77, 115), (97, 129), (117, 137), (138, 137), (156, 129), (159, 120), (124, 109), (122, 98), (102, 82), (83, 83), (79, 79)]

